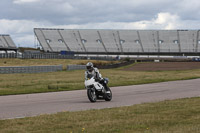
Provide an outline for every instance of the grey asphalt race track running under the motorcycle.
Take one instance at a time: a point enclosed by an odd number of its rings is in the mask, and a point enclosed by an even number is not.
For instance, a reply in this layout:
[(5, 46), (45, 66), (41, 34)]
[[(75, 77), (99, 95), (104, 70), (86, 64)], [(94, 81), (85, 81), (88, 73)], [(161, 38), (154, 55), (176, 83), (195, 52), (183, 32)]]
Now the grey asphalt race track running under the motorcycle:
[(0, 96), (0, 119), (102, 109), (200, 96), (200, 79), (112, 87), (111, 102), (90, 103), (86, 90)]

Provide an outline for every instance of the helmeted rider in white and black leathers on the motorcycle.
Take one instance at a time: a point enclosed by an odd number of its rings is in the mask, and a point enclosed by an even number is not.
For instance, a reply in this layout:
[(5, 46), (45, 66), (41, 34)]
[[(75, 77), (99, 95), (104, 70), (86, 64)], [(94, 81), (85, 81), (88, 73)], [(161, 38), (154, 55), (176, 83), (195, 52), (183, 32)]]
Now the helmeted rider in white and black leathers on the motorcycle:
[(106, 92), (109, 93), (108, 86), (104, 82), (104, 78), (102, 78), (102, 75), (99, 72), (98, 68), (94, 67), (92, 62), (88, 62), (86, 64), (85, 80), (87, 80), (88, 78), (91, 78), (91, 77), (94, 77), (95, 81), (102, 84), (105, 87)]

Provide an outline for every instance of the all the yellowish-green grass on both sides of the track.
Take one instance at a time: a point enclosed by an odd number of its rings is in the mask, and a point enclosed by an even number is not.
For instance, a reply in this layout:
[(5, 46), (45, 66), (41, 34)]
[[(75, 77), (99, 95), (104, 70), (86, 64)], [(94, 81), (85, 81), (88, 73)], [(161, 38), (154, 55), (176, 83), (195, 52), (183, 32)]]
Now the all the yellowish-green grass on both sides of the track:
[[(71, 62), (70, 62), (71, 61)], [(22, 62), (19, 64), (19, 62)], [(87, 60), (0, 60), (1, 66), (85, 64)], [(96, 62), (110, 63), (110, 62)], [(131, 67), (132, 65), (126, 66)], [(124, 67), (125, 68), (125, 67)], [(109, 86), (200, 78), (200, 70), (100, 70)], [(36, 74), (1, 74), (0, 95), (84, 89), (84, 70)], [(186, 98), (128, 107), (0, 120), (0, 133), (199, 133), (200, 98)]]

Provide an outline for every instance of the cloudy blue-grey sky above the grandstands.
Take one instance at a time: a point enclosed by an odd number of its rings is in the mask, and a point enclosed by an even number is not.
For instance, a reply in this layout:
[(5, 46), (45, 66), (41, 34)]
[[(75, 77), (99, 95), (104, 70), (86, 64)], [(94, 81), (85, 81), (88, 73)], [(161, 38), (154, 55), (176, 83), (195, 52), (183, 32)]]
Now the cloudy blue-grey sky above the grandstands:
[(200, 29), (199, 0), (0, 0), (0, 34), (34, 47), (33, 28)]

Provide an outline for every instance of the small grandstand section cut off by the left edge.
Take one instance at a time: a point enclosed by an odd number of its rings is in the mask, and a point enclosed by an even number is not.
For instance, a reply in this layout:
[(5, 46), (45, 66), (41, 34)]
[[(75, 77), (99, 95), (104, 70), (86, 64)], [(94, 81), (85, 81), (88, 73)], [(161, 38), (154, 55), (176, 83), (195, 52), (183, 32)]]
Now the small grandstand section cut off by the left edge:
[(0, 34), (0, 51), (17, 51), (17, 47), (9, 35)]

